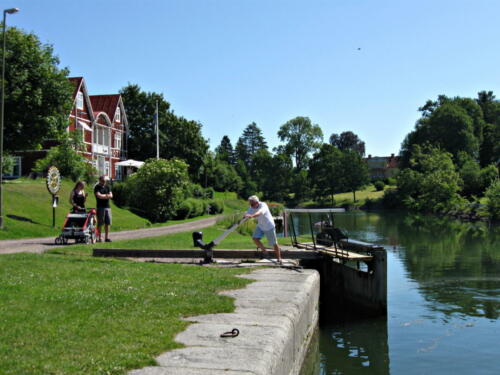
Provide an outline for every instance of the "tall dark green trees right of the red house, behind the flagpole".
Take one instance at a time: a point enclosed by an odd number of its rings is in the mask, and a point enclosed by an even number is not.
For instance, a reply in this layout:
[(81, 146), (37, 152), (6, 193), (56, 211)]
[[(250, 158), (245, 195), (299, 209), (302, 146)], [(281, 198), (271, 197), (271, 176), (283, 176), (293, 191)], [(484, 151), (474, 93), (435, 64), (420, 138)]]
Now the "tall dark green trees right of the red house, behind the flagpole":
[(208, 151), (207, 141), (201, 134), (201, 124), (176, 116), (162, 94), (143, 92), (133, 84), (122, 88), (120, 93), (129, 122), (129, 157), (139, 160), (156, 157), (154, 113), (158, 102), (160, 156), (185, 160), (191, 177), (199, 180), (200, 168)]

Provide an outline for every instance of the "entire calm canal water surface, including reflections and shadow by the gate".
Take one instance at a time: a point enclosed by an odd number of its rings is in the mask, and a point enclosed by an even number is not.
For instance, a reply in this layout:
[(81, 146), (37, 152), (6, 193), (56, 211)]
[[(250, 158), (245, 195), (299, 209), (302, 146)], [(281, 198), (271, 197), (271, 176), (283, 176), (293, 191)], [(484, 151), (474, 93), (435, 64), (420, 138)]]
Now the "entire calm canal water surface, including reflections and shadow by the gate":
[(500, 227), (404, 213), (336, 214), (388, 250), (388, 315), (322, 312), (303, 375), (500, 374)]

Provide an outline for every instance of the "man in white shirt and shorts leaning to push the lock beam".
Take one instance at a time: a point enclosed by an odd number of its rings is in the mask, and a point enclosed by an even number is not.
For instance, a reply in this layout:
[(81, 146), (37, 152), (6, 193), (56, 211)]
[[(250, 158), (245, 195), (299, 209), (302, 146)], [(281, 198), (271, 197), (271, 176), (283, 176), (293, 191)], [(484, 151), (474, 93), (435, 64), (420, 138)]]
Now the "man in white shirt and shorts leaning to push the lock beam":
[(257, 247), (266, 254), (266, 248), (260, 241), (260, 239), (265, 235), (269, 244), (273, 247), (276, 254), (276, 259), (281, 263), (281, 252), (278, 246), (278, 240), (276, 239), (276, 228), (274, 225), (274, 219), (269, 211), (269, 207), (264, 202), (259, 202), (259, 197), (252, 195), (248, 198), (248, 204), (250, 208), (245, 213), (245, 217), (256, 217), (257, 227), (253, 232), (252, 239)]

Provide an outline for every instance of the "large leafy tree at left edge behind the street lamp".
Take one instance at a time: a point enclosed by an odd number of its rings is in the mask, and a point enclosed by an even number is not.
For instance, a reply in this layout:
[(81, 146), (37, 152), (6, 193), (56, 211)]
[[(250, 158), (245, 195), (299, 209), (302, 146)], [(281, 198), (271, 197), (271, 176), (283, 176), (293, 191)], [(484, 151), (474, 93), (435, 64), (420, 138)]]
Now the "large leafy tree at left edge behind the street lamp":
[[(1, 53), (1, 52), (0, 52)], [(68, 126), (73, 87), (68, 70), (50, 45), (11, 27), (6, 32), (4, 145), (6, 150), (40, 148)]]

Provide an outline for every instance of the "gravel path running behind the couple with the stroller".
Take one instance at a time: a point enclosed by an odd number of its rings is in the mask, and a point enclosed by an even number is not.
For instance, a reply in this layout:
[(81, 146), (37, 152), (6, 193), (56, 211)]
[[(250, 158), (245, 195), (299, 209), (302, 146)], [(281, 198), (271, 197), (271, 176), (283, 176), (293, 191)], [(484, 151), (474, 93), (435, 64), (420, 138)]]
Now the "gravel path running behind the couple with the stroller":
[[(209, 227), (214, 225), (220, 216), (209, 217), (187, 223), (174, 224), (165, 227), (146, 228), (136, 230), (126, 230), (122, 232), (112, 232), (110, 237), (114, 241), (131, 240), (134, 238), (156, 237), (165, 234), (189, 232), (196, 229)], [(45, 238), (26, 238), (21, 240), (3, 240), (0, 241), (0, 254), (11, 253), (43, 253), (48, 249), (56, 247), (54, 244), (55, 237)], [(71, 245), (66, 245), (71, 246)]]

